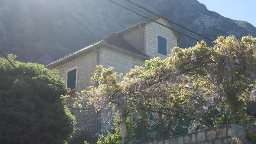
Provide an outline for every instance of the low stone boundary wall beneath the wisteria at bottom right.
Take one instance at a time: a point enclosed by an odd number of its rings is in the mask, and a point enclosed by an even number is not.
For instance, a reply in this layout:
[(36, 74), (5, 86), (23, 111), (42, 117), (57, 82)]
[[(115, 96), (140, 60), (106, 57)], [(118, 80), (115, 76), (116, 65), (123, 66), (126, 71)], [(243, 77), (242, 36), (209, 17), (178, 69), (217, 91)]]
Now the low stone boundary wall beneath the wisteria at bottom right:
[(184, 135), (146, 141), (143, 144), (231, 144), (234, 137), (245, 139), (245, 128), (235, 124), (222, 125)]

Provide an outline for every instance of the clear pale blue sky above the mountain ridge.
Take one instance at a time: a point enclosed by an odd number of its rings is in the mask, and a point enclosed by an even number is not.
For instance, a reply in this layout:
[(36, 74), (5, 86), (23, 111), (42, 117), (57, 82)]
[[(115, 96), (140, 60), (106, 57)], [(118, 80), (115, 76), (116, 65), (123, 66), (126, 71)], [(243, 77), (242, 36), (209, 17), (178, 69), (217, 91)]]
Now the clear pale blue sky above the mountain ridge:
[(208, 10), (230, 19), (247, 21), (256, 27), (256, 0), (198, 0)]

